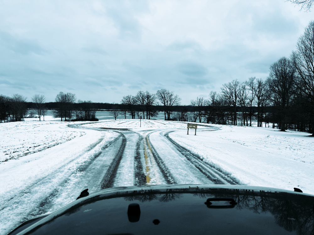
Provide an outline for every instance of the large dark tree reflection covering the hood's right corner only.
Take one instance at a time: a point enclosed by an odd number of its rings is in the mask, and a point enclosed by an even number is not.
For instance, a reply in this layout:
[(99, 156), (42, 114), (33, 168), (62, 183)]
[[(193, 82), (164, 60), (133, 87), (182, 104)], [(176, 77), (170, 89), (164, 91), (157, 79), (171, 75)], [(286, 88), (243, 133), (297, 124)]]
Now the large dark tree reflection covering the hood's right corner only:
[(289, 232), (314, 234), (313, 197), (229, 189), (221, 190), (211, 196), (234, 199), (237, 202), (235, 208), (238, 210), (246, 208), (258, 214), (270, 212), (274, 216), (276, 224)]

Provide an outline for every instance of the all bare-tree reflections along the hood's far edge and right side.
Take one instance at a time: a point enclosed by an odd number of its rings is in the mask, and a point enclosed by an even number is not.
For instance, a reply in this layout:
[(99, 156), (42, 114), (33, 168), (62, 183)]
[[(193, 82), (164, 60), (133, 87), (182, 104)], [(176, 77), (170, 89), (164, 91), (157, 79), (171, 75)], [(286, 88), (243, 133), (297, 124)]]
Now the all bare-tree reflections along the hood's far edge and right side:
[[(180, 189), (166, 193), (149, 192), (143, 195), (127, 196), (127, 201), (159, 200), (168, 202), (183, 197)], [(297, 231), (298, 234), (314, 234), (313, 222), (313, 197), (287, 193), (252, 191), (252, 190), (230, 190), (210, 189), (205, 191), (190, 192), (199, 198), (232, 198), (237, 204), (234, 209), (248, 209), (254, 213), (270, 212), (278, 224), (289, 232)]]

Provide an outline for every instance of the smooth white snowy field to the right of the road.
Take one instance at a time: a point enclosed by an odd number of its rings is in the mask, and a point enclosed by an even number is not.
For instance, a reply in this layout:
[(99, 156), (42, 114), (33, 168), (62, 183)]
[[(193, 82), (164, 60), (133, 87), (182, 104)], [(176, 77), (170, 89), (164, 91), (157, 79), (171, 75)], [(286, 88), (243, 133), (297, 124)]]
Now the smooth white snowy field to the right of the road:
[(169, 134), (243, 185), (266, 186), (314, 194), (314, 138), (278, 129), (211, 125), (219, 131)]

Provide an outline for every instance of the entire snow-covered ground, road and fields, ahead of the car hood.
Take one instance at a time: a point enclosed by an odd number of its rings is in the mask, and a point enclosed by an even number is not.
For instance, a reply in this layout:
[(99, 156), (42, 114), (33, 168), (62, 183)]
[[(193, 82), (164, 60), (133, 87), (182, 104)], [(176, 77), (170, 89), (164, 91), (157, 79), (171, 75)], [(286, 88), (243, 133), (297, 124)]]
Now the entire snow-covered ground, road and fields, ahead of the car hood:
[[(140, 126), (141, 125), (141, 126)], [(86, 188), (243, 184), (314, 194), (308, 133), (138, 119), (0, 124), (0, 235)]]

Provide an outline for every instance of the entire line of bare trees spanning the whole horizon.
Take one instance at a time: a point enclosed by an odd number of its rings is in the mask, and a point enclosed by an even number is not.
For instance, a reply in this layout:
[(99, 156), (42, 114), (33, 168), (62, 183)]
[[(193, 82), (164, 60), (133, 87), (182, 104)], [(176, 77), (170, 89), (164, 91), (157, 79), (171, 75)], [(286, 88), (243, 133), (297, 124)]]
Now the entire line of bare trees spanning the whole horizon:
[[(220, 92), (211, 91), (208, 98), (197, 97), (190, 105), (180, 106), (181, 98), (166, 89), (156, 93), (138, 91), (123, 96), (120, 103), (93, 103), (78, 100), (72, 93), (60, 92), (54, 103), (45, 103), (45, 96), (35, 95), (32, 103), (15, 94), (0, 95), (0, 121), (21, 121), (27, 108), (44, 118), (46, 110), (63, 121), (96, 120), (97, 109), (109, 109), (116, 119), (155, 118), (164, 113), (165, 120), (206, 122), (257, 127), (269, 124), (281, 131), (293, 129), (314, 131), (314, 21), (310, 21), (299, 37), (296, 50), (289, 58), (281, 57), (269, 67), (267, 79), (251, 77), (245, 82), (225, 83)], [(40, 119), (41, 120), (41, 119)]]

